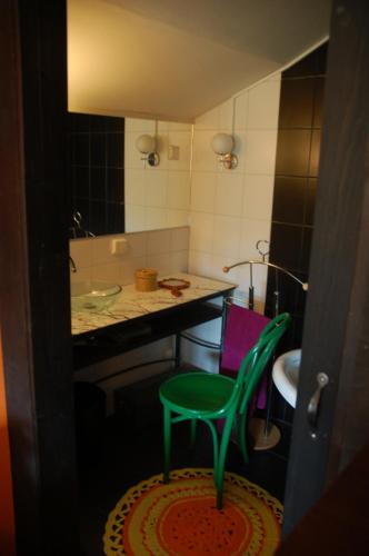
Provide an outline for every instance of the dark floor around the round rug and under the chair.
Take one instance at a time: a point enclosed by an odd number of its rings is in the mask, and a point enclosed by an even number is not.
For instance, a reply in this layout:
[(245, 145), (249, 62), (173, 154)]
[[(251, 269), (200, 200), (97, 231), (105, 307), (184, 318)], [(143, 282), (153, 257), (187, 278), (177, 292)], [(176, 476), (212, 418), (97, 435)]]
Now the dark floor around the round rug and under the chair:
[[(173, 431), (172, 467), (212, 467), (210, 434), (198, 427), (195, 448), (189, 448), (188, 424), (179, 424)], [(288, 429), (273, 451), (253, 451), (245, 465), (233, 444), (228, 450), (226, 469), (238, 473), (266, 488), (280, 500), (283, 498), (289, 446)], [(94, 456), (96, 457), (96, 456)], [(162, 471), (162, 436), (160, 419), (138, 431), (129, 430), (118, 417), (107, 419), (100, 460), (89, 463), (80, 470), (81, 545), (84, 556), (100, 556), (102, 535), (108, 514), (130, 487)]]

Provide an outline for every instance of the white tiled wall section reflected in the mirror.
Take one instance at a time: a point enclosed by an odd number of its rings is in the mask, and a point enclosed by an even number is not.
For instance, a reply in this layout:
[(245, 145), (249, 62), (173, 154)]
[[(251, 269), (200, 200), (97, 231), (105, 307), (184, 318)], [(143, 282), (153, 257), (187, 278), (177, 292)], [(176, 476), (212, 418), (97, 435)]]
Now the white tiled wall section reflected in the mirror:
[[(154, 136), (160, 163), (150, 167), (136, 148), (140, 135)], [(141, 231), (186, 226), (190, 208), (192, 126), (126, 118), (126, 230)], [(179, 147), (179, 160), (169, 160), (169, 146)]]

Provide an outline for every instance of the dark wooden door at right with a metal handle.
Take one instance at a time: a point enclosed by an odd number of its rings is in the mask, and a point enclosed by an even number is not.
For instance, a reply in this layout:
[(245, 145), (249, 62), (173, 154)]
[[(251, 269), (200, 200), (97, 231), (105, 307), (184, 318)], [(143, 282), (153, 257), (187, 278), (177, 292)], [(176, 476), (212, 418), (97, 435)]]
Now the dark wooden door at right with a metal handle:
[[(369, 440), (369, 3), (332, 8), (287, 534)], [(326, 373), (317, 437), (307, 419)]]

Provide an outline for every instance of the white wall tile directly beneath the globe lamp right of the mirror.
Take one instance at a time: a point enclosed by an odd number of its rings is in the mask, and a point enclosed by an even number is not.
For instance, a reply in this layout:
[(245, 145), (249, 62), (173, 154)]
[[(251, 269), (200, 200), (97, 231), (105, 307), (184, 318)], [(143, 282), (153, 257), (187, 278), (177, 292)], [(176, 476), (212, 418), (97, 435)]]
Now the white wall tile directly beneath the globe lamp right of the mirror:
[(218, 175), (216, 192), (216, 215), (241, 216), (243, 180), (231, 170)]

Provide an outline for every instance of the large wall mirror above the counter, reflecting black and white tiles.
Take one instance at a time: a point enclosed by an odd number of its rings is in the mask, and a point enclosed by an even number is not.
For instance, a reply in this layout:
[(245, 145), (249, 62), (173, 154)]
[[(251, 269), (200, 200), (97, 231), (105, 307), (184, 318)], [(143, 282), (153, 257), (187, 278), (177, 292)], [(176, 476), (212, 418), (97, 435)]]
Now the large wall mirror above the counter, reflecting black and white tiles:
[[(189, 123), (68, 113), (70, 237), (188, 225)], [(158, 166), (137, 148), (156, 138)]]

